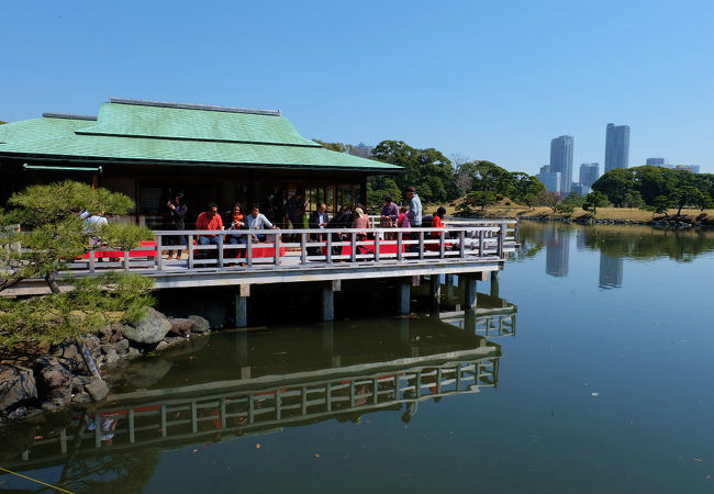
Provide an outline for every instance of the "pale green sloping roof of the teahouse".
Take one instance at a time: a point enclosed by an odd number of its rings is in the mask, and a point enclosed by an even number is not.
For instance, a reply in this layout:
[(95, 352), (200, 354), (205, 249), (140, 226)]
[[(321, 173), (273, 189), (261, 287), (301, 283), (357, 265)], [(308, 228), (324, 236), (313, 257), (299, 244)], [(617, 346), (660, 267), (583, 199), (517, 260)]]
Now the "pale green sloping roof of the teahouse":
[(101, 104), (96, 122), (77, 115), (45, 114), (2, 125), (0, 156), (401, 170), (325, 149), (302, 137), (279, 112), (130, 100)]

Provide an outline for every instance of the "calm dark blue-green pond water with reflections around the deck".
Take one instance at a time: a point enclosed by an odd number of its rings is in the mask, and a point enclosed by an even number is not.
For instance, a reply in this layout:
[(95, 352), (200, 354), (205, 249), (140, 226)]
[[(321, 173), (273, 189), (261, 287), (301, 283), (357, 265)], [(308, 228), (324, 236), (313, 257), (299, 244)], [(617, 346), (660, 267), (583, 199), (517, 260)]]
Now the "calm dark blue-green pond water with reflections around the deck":
[(521, 242), (476, 313), (453, 279), (409, 318), (389, 287), (332, 324), (253, 307), (265, 326), (133, 361), (96, 409), (1, 428), (0, 467), (102, 493), (714, 492), (714, 234)]

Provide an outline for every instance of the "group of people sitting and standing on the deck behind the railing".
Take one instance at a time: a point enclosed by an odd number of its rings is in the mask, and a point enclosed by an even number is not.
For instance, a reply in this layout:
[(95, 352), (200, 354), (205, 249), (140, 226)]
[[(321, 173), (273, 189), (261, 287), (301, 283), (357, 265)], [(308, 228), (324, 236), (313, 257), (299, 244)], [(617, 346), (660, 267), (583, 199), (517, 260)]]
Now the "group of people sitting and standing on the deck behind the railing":
[[(442, 218), (446, 213), (444, 207), (439, 207), (432, 217), (424, 217), (422, 215), (422, 202), (416, 193), (416, 189), (409, 187), (405, 190), (405, 195), (409, 202), (408, 205), (402, 207), (394, 202), (392, 197), (384, 195), (379, 227), (420, 227), (424, 224), (424, 221), (427, 221), (427, 224), (432, 227), (443, 227)], [(285, 216), (289, 220), (293, 228), (302, 228), (304, 226), (304, 206), (303, 195), (299, 192), (286, 202)], [(310, 235), (310, 239), (312, 242), (324, 240), (325, 233), (320, 233), (320, 231), (327, 228), (356, 228), (359, 229), (357, 239), (360, 242), (366, 240), (368, 238), (367, 229), (372, 226), (366, 211), (365, 205), (360, 203), (355, 204), (354, 209), (342, 206), (337, 214), (331, 218), (327, 214), (327, 205), (324, 202), (319, 203), (316, 210), (310, 213), (308, 217), (308, 227), (316, 231)], [(176, 194), (166, 204), (165, 229), (186, 229), (187, 212), (188, 207), (183, 202), (183, 195), (180, 193)], [(250, 211), (246, 214), (243, 206), (236, 202), (224, 215), (219, 213), (219, 206), (216, 204), (208, 204), (205, 211), (200, 213), (196, 220), (196, 229), (224, 232), (222, 234), (203, 233), (196, 235), (192, 240), (196, 240), (197, 245), (217, 246), (220, 244), (219, 235), (222, 235), (224, 244), (235, 245), (236, 249), (241, 249), (246, 246), (248, 235), (253, 237), (253, 242), (260, 243), (266, 239), (266, 234), (259, 233), (260, 231), (280, 228), (260, 212), (260, 204), (253, 204)], [(250, 231), (253, 233), (237, 234), (236, 231)], [(232, 232), (236, 233), (232, 234)], [(440, 234), (436, 232), (433, 236), (438, 235)], [(344, 234), (333, 232), (333, 240), (339, 242), (346, 237)], [(412, 238), (417, 238), (417, 235), (412, 235)], [(167, 246), (178, 246), (183, 245), (186, 240), (187, 238), (180, 235), (167, 236), (165, 244)], [(298, 238), (293, 238), (293, 242), (297, 240)], [(416, 246), (412, 246), (412, 250), (414, 247)], [(319, 248), (310, 248), (309, 255), (319, 255)], [(169, 259), (175, 256), (176, 258), (180, 258), (181, 250), (169, 250)]]

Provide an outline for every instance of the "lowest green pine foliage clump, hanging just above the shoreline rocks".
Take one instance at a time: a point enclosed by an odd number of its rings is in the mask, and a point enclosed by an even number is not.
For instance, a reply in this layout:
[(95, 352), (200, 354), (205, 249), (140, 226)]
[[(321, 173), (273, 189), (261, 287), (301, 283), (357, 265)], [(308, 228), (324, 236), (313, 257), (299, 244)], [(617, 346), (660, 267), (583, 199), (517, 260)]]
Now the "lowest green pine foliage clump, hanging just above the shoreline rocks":
[(21, 341), (58, 343), (112, 322), (135, 323), (153, 305), (154, 282), (111, 273), (72, 281), (74, 290), (26, 300), (0, 297), (0, 347)]

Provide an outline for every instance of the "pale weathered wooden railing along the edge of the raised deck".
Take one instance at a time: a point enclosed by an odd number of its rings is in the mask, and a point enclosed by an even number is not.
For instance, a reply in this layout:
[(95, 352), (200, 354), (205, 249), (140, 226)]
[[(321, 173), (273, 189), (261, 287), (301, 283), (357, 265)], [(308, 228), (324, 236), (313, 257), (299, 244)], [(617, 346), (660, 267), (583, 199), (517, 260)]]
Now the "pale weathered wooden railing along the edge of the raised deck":
[[(89, 272), (115, 269), (165, 271), (315, 262), (504, 259), (515, 249), (516, 228), (515, 221), (500, 221), (473, 225), (450, 223), (443, 228), (157, 231), (155, 245), (131, 251), (93, 249), (88, 257), (75, 260), (70, 268)], [(201, 245), (198, 242), (200, 237), (208, 238), (211, 244)], [(166, 259), (163, 255), (177, 250), (182, 252), (178, 259)]]

